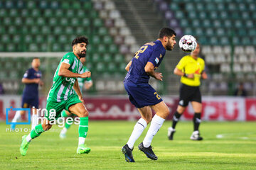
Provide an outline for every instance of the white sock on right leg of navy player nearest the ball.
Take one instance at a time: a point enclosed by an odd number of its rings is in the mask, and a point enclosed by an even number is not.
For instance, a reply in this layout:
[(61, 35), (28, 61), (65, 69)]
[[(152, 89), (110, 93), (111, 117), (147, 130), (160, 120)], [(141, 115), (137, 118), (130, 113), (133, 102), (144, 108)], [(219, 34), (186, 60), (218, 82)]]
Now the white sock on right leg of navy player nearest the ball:
[(149, 130), (146, 133), (146, 137), (143, 140), (143, 146), (144, 147), (149, 147), (151, 145), (151, 142), (153, 140), (154, 135), (156, 135), (156, 132), (159, 131), (159, 129), (161, 128), (163, 123), (164, 123), (163, 118), (161, 118), (158, 115), (154, 115), (154, 118), (152, 118)]

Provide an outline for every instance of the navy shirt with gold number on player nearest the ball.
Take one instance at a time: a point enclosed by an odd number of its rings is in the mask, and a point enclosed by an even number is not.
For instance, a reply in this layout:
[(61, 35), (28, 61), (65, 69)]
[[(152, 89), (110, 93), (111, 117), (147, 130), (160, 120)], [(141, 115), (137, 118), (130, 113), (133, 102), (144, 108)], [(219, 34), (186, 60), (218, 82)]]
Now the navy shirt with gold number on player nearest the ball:
[(149, 84), (149, 75), (146, 74), (144, 67), (147, 62), (151, 62), (157, 69), (164, 58), (166, 50), (160, 40), (148, 42), (137, 51), (132, 58), (132, 65), (124, 79), (125, 84)]

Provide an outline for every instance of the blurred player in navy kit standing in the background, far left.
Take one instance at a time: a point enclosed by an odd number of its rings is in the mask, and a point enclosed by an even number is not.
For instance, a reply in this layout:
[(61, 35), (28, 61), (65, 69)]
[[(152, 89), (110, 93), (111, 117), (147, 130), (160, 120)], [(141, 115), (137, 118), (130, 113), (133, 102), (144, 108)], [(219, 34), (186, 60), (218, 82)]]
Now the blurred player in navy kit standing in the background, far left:
[[(33, 129), (38, 121), (38, 115), (36, 115), (36, 108), (38, 108), (39, 105), (38, 85), (43, 86), (43, 81), (41, 81), (42, 73), (39, 70), (40, 59), (34, 57), (31, 65), (32, 67), (25, 72), (21, 80), (22, 83), (25, 84), (22, 94), (21, 108), (31, 108), (31, 113), (33, 113), (31, 118), (31, 129)], [(26, 111), (17, 111), (11, 122), (15, 123), (21, 118), (21, 115), (24, 115), (25, 113)], [(11, 130), (15, 130), (15, 126), (16, 125), (12, 124)]]

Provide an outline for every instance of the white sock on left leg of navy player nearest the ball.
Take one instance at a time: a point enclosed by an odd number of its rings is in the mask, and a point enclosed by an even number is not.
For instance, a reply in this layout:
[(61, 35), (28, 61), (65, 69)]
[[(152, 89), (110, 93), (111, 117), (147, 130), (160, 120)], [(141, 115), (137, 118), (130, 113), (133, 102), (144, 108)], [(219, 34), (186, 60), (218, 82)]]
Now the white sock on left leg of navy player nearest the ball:
[(134, 130), (132, 131), (132, 135), (129, 137), (127, 145), (130, 149), (134, 146), (136, 140), (142, 135), (143, 130), (146, 128), (146, 120), (140, 118), (136, 125), (134, 125)]

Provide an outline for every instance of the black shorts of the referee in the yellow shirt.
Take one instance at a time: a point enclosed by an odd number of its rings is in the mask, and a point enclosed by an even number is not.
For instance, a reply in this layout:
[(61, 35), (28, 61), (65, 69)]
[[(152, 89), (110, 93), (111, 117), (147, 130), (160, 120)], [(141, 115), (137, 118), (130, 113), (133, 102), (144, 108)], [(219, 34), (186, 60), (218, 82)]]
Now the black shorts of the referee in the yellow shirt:
[(202, 102), (201, 91), (199, 86), (188, 86), (186, 84), (181, 84), (179, 90), (179, 101), (178, 105), (186, 107), (189, 101)]

